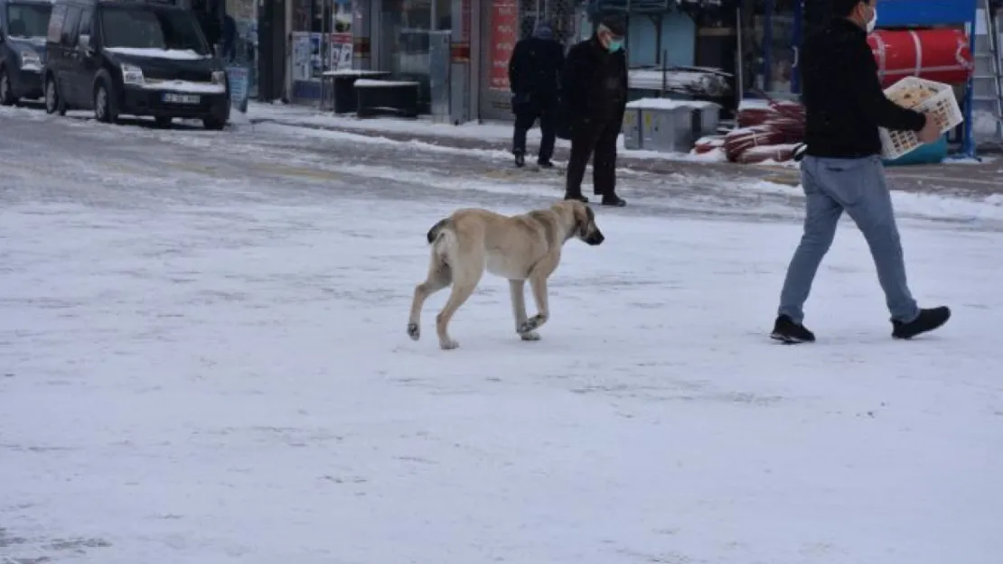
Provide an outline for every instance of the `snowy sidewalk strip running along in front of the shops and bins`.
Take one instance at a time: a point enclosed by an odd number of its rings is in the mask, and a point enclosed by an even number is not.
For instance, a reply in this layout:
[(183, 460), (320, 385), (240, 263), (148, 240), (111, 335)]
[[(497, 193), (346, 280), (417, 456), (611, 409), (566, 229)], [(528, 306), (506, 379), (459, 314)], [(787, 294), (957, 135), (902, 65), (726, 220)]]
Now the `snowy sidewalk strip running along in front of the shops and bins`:
[[(250, 104), (247, 117), (252, 124), (276, 123), (471, 150), (509, 151), (512, 146), (512, 124), (503, 122), (452, 125), (422, 119), (357, 119), (320, 112), (309, 106), (256, 102)], [(528, 140), (532, 151), (540, 141), (540, 129), (530, 131)], [(569, 148), (568, 141), (558, 139), (555, 160), (567, 161)], [(790, 186), (799, 183), (797, 168), (789, 163), (734, 164), (727, 162), (720, 153), (690, 155), (626, 150), (623, 148), (622, 138), (618, 164), (633, 170), (659, 174), (700, 175), (728, 181), (766, 180)], [(896, 190), (976, 198), (1003, 194), (1003, 161), (993, 158), (987, 158), (983, 162), (890, 167), (887, 173), (890, 184)]]

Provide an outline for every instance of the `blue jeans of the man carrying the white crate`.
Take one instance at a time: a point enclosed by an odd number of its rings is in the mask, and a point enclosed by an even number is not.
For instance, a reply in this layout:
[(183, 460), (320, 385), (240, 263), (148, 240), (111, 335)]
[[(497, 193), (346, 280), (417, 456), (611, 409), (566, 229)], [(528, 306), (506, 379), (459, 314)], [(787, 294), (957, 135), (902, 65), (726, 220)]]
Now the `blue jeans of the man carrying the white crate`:
[(801, 161), (801, 185), (807, 198), (804, 234), (787, 267), (778, 315), (789, 316), (796, 323), (804, 319), (803, 307), (811, 283), (846, 210), (871, 247), (892, 320), (914, 321), (920, 310), (906, 281), (899, 227), (881, 158), (805, 156)]

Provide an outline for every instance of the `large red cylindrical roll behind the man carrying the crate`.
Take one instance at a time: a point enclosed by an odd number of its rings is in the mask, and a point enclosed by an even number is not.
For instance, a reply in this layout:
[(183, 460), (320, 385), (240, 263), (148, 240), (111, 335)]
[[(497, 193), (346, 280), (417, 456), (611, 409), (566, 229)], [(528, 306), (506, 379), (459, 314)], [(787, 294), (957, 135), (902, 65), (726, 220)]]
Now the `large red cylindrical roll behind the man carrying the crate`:
[(975, 72), (968, 36), (960, 29), (876, 30), (868, 44), (886, 88), (907, 76), (961, 84)]

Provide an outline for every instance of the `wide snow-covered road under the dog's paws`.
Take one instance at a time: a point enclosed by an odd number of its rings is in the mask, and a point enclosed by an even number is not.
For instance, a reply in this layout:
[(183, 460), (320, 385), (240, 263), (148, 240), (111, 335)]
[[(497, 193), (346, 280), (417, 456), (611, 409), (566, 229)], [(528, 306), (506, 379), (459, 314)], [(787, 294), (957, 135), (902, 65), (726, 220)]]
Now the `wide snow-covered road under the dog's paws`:
[(410, 342), (435, 220), (560, 193), (506, 160), (0, 109), (0, 563), (998, 561), (1000, 202), (896, 194), (911, 343), (848, 223), (774, 346), (796, 193), (630, 173), (543, 341), (485, 277)]

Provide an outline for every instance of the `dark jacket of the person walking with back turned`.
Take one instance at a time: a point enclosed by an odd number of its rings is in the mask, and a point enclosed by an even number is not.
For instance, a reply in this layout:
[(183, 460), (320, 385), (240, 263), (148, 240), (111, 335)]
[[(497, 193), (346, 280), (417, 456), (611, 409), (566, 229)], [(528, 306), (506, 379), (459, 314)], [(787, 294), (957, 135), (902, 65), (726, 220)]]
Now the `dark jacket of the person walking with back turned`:
[(547, 110), (558, 103), (563, 68), (564, 46), (560, 42), (542, 37), (522, 39), (509, 60), (512, 93), (538, 111)]

